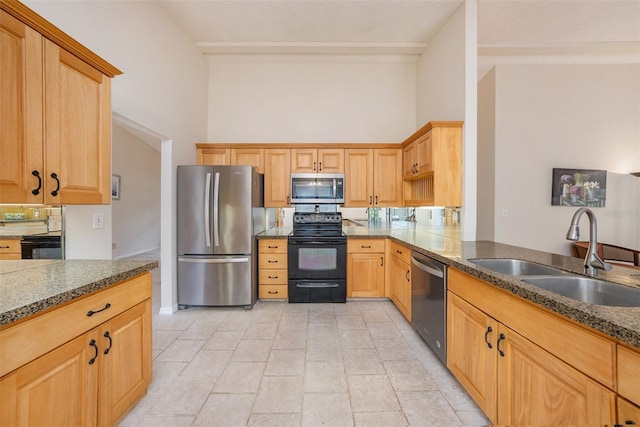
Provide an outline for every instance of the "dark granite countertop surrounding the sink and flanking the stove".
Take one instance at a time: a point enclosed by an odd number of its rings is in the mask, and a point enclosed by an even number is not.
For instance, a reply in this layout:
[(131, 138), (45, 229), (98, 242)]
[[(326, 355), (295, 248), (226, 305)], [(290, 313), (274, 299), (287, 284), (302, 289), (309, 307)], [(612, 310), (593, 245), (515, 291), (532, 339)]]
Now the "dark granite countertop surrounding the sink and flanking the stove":
[[(270, 229), (259, 238), (286, 238), (291, 229)], [(583, 303), (529, 285), (517, 277), (494, 273), (471, 263), (474, 258), (517, 258), (584, 274), (583, 261), (496, 242), (463, 242), (457, 227), (430, 228), (412, 223), (391, 223), (374, 227), (343, 227), (348, 238), (391, 238), (451, 267), (547, 308), (620, 342), (640, 348), (640, 307), (607, 307)], [(598, 278), (640, 288), (640, 270), (613, 266), (598, 271)]]

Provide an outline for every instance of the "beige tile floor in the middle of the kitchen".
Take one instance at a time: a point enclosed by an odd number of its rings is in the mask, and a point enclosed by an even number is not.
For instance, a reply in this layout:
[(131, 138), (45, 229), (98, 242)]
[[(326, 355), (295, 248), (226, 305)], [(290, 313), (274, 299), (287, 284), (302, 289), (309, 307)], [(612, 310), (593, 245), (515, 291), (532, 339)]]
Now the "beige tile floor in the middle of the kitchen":
[(123, 427), (489, 424), (388, 300), (158, 315), (153, 277), (153, 380)]

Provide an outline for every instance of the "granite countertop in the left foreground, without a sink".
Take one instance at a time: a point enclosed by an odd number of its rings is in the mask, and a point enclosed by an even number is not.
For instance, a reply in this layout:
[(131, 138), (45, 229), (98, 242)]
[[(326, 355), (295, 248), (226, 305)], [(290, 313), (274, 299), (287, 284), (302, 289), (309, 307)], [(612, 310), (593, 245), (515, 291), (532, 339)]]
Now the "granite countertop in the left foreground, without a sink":
[(0, 327), (158, 266), (158, 261), (0, 261)]

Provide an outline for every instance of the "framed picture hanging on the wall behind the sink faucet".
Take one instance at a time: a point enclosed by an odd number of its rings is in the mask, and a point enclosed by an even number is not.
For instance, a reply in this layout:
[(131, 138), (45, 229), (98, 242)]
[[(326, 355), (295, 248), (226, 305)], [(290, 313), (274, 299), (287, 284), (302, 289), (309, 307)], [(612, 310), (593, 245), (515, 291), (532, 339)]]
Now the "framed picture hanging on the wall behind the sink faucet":
[(551, 205), (603, 208), (606, 199), (606, 170), (553, 168)]

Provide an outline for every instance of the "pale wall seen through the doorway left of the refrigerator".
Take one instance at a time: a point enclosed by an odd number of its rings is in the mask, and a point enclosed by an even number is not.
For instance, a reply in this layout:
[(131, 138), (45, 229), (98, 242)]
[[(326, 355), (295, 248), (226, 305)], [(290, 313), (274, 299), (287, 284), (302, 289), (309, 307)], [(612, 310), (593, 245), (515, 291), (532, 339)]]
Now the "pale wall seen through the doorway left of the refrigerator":
[(160, 152), (114, 124), (111, 171), (120, 199), (111, 203), (113, 258), (160, 248)]

